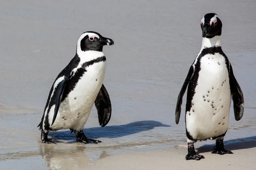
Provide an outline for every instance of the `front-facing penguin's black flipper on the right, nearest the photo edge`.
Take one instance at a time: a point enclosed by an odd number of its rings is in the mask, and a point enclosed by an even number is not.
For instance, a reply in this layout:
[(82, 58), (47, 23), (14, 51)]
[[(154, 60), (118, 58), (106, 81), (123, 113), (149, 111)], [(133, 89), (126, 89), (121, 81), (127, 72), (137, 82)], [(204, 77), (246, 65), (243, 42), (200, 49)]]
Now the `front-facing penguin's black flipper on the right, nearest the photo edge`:
[(233, 74), (233, 69), (231, 64), (230, 64), (230, 91), (233, 99), (235, 119), (236, 121), (239, 121), (244, 114), (244, 96)]

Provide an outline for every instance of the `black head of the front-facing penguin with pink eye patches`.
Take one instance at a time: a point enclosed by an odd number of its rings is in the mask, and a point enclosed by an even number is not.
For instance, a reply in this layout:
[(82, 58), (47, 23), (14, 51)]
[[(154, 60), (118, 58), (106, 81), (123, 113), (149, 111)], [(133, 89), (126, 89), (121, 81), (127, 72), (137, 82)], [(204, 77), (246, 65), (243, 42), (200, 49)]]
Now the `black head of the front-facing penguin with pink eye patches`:
[(203, 37), (212, 38), (221, 35), (222, 23), (217, 14), (208, 13), (201, 19)]

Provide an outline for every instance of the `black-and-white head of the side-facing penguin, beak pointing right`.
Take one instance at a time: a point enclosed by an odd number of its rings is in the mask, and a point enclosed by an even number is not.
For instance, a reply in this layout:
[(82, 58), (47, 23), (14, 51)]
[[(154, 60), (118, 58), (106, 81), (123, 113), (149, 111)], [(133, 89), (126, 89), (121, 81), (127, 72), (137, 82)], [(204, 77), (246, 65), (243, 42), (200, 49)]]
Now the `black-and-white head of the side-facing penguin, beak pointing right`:
[(102, 37), (94, 31), (87, 31), (80, 35), (77, 41), (77, 51), (102, 51), (104, 45), (113, 45), (110, 38)]

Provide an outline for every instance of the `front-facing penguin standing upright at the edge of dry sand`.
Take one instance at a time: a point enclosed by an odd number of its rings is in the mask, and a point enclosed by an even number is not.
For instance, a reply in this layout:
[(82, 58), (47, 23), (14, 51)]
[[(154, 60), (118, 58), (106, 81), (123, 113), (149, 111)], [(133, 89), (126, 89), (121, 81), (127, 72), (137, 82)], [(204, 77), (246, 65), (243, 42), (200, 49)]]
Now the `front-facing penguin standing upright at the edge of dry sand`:
[(182, 97), (187, 90), (186, 136), (188, 154), (186, 160), (204, 158), (195, 152), (196, 141), (215, 139), (212, 153), (220, 155), (232, 152), (224, 149), (231, 96), (235, 119), (244, 113), (244, 98), (232, 66), (221, 49), (222, 23), (217, 14), (205, 14), (201, 19), (203, 31), (202, 47), (195, 58), (177, 99), (175, 121), (179, 123)]

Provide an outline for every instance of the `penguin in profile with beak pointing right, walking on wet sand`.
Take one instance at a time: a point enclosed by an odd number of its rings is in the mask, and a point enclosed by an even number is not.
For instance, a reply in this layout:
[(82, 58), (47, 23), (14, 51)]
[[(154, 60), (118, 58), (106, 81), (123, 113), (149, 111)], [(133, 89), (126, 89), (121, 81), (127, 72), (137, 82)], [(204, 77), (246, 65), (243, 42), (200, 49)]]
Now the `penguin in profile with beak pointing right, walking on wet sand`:
[(99, 140), (87, 139), (83, 127), (95, 103), (99, 125), (104, 127), (111, 118), (111, 102), (103, 79), (106, 57), (102, 52), (104, 45), (113, 45), (113, 40), (102, 37), (94, 31), (81, 34), (76, 47), (76, 55), (58, 74), (49, 93), (41, 123), (43, 143), (60, 142), (49, 139), (49, 131), (70, 129), (75, 132), (76, 141), (97, 143)]

